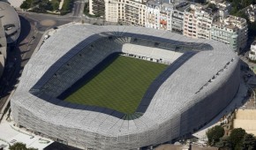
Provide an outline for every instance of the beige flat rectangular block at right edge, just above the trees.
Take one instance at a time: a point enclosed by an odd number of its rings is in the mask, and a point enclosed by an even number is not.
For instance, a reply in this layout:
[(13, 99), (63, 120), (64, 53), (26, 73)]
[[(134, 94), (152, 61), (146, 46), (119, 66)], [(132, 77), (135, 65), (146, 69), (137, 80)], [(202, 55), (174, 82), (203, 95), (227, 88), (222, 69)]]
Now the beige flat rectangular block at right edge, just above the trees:
[(256, 109), (237, 109), (233, 124), (256, 136)]

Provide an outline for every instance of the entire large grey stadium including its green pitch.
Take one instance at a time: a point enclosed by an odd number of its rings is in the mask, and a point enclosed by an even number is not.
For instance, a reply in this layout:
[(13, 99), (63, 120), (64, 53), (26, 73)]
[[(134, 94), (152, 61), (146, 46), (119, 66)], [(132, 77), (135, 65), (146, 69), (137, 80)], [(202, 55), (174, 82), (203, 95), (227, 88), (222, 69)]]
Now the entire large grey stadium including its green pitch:
[(232, 101), (239, 59), (218, 41), (138, 26), (59, 28), (11, 97), (16, 124), (87, 149), (190, 135)]

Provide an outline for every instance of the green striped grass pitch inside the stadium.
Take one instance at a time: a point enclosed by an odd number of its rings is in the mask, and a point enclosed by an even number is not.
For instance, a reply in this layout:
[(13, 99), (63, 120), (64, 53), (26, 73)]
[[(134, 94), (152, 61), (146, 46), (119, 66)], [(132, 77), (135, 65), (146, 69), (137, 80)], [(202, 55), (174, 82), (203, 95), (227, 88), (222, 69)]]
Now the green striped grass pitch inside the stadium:
[(64, 101), (133, 114), (148, 86), (167, 66), (127, 56), (116, 56), (101, 73), (95, 74)]

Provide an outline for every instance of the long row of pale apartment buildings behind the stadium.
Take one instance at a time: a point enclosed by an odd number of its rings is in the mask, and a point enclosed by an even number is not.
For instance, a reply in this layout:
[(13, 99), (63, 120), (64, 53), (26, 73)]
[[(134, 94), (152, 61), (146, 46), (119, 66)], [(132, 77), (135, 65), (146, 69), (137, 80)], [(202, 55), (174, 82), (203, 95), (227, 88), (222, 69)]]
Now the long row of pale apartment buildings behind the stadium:
[[(90, 0), (94, 2), (98, 0)], [(98, 4), (90, 12), (99, 10)], [(234, 51), (245, 48), (247, 23), (230, 16), (231, 4), (212, 0), (208, 4), (181, 2), (167, 4), (161, 0), (105, 0), (105, 20), (127, 25), (146, 26), (185, 36), (222, 41)], [(254, 8), (254, 7), (253, 7)]]

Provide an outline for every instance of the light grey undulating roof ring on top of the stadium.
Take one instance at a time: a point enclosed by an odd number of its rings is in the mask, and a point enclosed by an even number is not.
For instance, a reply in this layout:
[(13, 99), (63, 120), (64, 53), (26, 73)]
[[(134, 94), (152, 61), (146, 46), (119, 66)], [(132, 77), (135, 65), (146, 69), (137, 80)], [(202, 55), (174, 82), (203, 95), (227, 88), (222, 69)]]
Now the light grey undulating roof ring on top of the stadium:
[[(86, 109), (86, 106), (56, 101), (52, 97), (41, 100), (36, 95), (29, 93), (29, 90), (53, 64), (58, 62), (55, 65), (57, 69), (87, 44), (110, 35), (130, 35), (147, 39), (161, 38), (162, 41), (171, 40), (173, 44), (205, 43), (210, 47), (206, 48), (208, 50), (202, 50), (188, 60), (183, 61), (183, 64), (179, 65), (168, 79), (162, 83), (154, 94), (144, 115), (138, 119), (124, 120), (105, 113), (90, 111)], [(69, 53), (71, 49), (72, 52)], [(70, 56), (65, 56), (66, 54), (70, 54)], [(183, 59), (186, 59), (186, 57)], [(45, 41), (37, 54), (26, 64), (19, 86), (11, 98), (11, 103), (18, 104), (19, 107), (27, 109), (34, 116), (51, 124), (68, 126), (84, 131), (101, 132), (102, 135), (109, 137), (135, 134), (148, 131), (148, 129), (169, 121), (174, 122), (169, 118), (179, 115), (200, 101), (201, 97), (206, 97), (207, 94), (218, 90), (226, 79), (230, 77), (234, 68), (237, 67), (237, 62), (238, 58), (230, 48), (218, 41), (191, 39), (180, 34), (146, 27), (67, 26), (58, 29), (56, 34), (53, 34)], [(224, 71), (227, 64), (229, 64), (229, 69)], [(55, 102), (52, 102), (53, 100)]]

